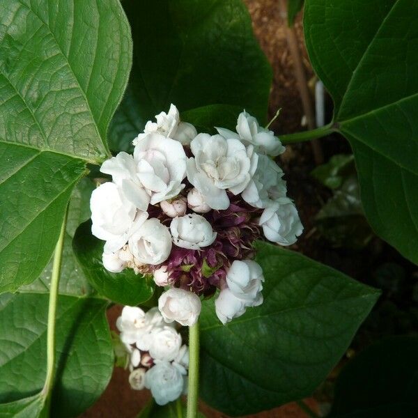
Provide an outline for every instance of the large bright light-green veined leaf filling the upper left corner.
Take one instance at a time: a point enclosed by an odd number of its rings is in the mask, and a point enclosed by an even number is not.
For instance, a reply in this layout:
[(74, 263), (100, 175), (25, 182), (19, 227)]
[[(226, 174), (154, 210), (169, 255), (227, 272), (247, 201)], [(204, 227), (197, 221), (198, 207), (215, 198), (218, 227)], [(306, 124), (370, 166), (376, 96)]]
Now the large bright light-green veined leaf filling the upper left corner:
[(1, 1), (0, 292), (42, 272), (85, 162), (107, 155), (131, 49), (118, 0)]

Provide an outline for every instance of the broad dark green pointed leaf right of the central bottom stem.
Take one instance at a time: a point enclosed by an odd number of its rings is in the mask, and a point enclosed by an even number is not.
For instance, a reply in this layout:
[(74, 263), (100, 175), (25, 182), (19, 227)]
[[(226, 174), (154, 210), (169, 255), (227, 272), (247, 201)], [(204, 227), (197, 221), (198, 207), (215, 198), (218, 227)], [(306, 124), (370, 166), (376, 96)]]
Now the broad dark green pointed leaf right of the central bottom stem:
[(263, 304), (226, 326), (213, 300), (203, 302), (201, 314), (201, 396), (233, 416), (311, 395), (379, 295), (293, 251), (265, 242), (256, 247)]

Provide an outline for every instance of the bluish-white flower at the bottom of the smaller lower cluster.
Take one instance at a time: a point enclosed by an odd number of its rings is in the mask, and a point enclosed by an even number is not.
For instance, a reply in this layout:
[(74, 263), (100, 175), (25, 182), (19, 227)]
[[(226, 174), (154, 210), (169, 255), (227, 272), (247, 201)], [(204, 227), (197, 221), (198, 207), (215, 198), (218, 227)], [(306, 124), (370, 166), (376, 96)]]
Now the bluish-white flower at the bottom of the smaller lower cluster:
[(184, 378), (180, 371), (169, 362), (157, 362), (145, 374), (145, 387), (158, 405), (175, 401), (183, 392)]

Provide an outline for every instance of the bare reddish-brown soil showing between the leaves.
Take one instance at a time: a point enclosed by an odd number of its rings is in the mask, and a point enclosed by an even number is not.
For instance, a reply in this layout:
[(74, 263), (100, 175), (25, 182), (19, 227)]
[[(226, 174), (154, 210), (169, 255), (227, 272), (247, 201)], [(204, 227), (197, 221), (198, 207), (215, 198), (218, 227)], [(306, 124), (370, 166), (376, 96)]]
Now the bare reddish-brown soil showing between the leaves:
[[(286, 42), (285, 24), (286, 22), (279, 13), (277, 0), (245, 0), (249, 7), (249, 12), (253, 19), (254, 32), (260, 45), (268, 57), (274, 71), (272, 92), (270, 95), (269, 117), (271, 118), (281, 107), (279, 119), (274, 122), (272, 129), (277, 134), (297, 132), (302, 130), (301, 120), (303, 116), (302, 104), (297, 84), (293, 72), (293, 60), (288, 51)], [(295, 31), (302, 52), (302, 61), (307, 75), (311, 79), (313, 72), (307, 59), (302, 37), (302, 23), (299, 18), (295, 24)], [(320, 196), (318, 196), (318, 185), (314, 185), (309, 178), (309, 172), (314, 167), (311, 148), (309, 144), (300, 144), (288, 147), (282, 156), (281, 165), (285, 172), (292, 171), (292, 179), (288, 181), (290, 194), (295, 198), (297, 207), (302, 208), (301, 217), (304, 222), (305, 231), (309, 235), (312, 226), (309, 219), (320, 206)], [(300, 185), (303, 184), (304, 189)], [(297, 185), (297, 187), (295, 187)], [(292, 193), (293, 192), (293, 193)], [(314, 258), (314, 249), (310, 249), (307, 240), (301, 240), (299, 248), (305, 254)], [(114, 328), (114, 323), (120, 312), (120, 307), (114, 307), (109, 311), (109, 323)], [(84, 418), (134, 418), (138, 415), (141, 408), (148, 401), (150, 394), (148, 391), (133, 391), (127, 382), (128, 372), (116, 368), (111, 378), (111, 382), (99, 401), (92, 408), (84, 412)], [(309, 405), (315, 407), (314, 399), (307, 400)], [(201, 405), (202, 412), (208, 418), (226, 417), (215, 410), (211, 410), (207, 405)], [(295, 403), (289, 403), (281, 408), (251, 415), (253, 418), (305, 418), (307, 415), (300, 410)]]

